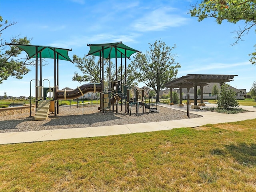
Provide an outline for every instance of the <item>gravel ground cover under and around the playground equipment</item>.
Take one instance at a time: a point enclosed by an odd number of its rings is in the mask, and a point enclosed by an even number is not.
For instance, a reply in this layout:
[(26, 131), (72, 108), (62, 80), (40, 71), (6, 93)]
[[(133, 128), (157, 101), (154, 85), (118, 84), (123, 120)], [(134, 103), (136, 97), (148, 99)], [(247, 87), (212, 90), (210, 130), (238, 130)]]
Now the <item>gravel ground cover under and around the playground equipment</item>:
[[(121, 111), (121, 106), (118, 106), (118, 113), (107, 110), (107, 112), (99, 112), (98, 106), (60, 106), (59, 114), (49, 114), (46, 120), (35, 121), (35, 112), (30, 112), (0, 117), (0, 133), (4, 132), (20, 132), (20, 131), (38, 131), (66, 128), (82, 128), (95, 126), (122, 125), (133, 123), (158, 122), (169, 120), (180, 120), (188, 118), (186, 112), (174, 110), (166, 107), (159, 107), (159, 113), (149, 113), (146, 109), (142, 113), (142, 107), (139, 108), (139, 114), (136, 115), (135, 110), (132, 114), (125, 113), (125, 107)], [(198, 118), (200, 116), (190, 114), (190, 118)]]

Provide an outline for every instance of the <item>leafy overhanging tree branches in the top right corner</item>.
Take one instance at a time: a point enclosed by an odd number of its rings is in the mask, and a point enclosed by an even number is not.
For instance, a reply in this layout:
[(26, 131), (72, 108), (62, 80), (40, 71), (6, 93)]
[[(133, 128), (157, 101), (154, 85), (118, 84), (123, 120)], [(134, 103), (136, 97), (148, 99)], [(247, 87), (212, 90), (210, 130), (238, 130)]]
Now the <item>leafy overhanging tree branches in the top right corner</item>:
[[(237, 36), (233, 45), (242, 40), (242, 36), (248, 34), (250, 29), (253, 29), (256, 25), (255, 0), (202, 0), (200, 4), (196, 3), (190, 6), (191, 9), (188, 12), (191, 16), (198, 17), (199, 22), (211, 17), (215, 18), (218, 24), (221, 24), (223, 20), (233, 24), (243, 21), (244, 28), (235, 31)], [(249, 56), (252, 56), (250, 62), (256, 64), (256, 51), (249, 54)]]

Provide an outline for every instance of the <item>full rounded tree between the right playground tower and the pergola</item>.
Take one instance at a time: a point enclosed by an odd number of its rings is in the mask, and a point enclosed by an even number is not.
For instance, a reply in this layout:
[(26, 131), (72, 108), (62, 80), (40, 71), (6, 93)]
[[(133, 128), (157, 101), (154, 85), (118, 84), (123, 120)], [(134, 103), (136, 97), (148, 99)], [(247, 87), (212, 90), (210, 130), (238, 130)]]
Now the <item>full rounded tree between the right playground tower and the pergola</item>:
[(172, 48), (166, 46), (162, 40), (150, 44), (150, 50), (146, 54), (137, 53), (134, 61), (128, 66), (138, 82), (143, 82), (156, 92), (156, 102), (159, 102), (159, 93), (165, 85), (176, 78), (180, 64), (175, 62)]

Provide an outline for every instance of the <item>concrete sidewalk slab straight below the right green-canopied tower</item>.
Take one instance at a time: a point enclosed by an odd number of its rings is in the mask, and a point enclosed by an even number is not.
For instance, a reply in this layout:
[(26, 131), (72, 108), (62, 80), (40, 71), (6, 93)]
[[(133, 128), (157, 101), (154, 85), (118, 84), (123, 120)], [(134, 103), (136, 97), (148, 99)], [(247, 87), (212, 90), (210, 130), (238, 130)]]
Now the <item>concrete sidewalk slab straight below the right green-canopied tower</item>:
[(91, 127), (86, 137), (120, 135), (120, 134), (128, 134), (128, 133), (131, 133), (131, 131), (127, 128), (126, 125), (100, 126), (100, 127)]

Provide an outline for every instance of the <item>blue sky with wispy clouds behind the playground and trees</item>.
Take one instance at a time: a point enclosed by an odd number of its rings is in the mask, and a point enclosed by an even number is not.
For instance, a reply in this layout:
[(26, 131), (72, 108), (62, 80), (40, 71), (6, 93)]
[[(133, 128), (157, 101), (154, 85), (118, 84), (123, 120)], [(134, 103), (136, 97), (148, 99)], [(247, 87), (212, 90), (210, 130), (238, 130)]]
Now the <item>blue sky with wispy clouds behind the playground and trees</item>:
[[(256, 65), (249, 62), (254, 51), (254, 29), (239, 44), (235, 30), (243, 23), (218, 25), (214, 19), (198, 22), (187, 14), (194, 0), (0, 0), (0, 15), (4, 20), (18, 22), (3, 31), (1, 38), (9, 42), (19, 35), (32, 38), (31, 44), (72, 48), (73, 54), (83, 57), (89, 52), (87, 44), (122, 41), (127, 46), (146, 53), (149, 44), (163, 40), (177, 48), (176, 62), (181, 68), (178, 76), (186, 74), (232, 74), (229, 84), (250, 91), (256, 80)], [(20, 57), (26, 56), (26, 53)], [(132, 58), (132, 57), (131, 57)], [(98, 59), (98, 58), (97, 58)], [(42, 69), (42, 78), (54, 86), (53, 60)], [(128, 63), (130, 61), (128, 60)], [(10, 77), (0, 84), (0, 95), (30, 96), (30, 81), (35, 79), (35, 67), (23, 79)], [(59, 62), (59, 89), (76, 88), (72, 81), (79, 72), (71, 62)], [(32, 96), (34, 93), (32, 81)], [(143, 84), (140, 84), (143, 86)]]

